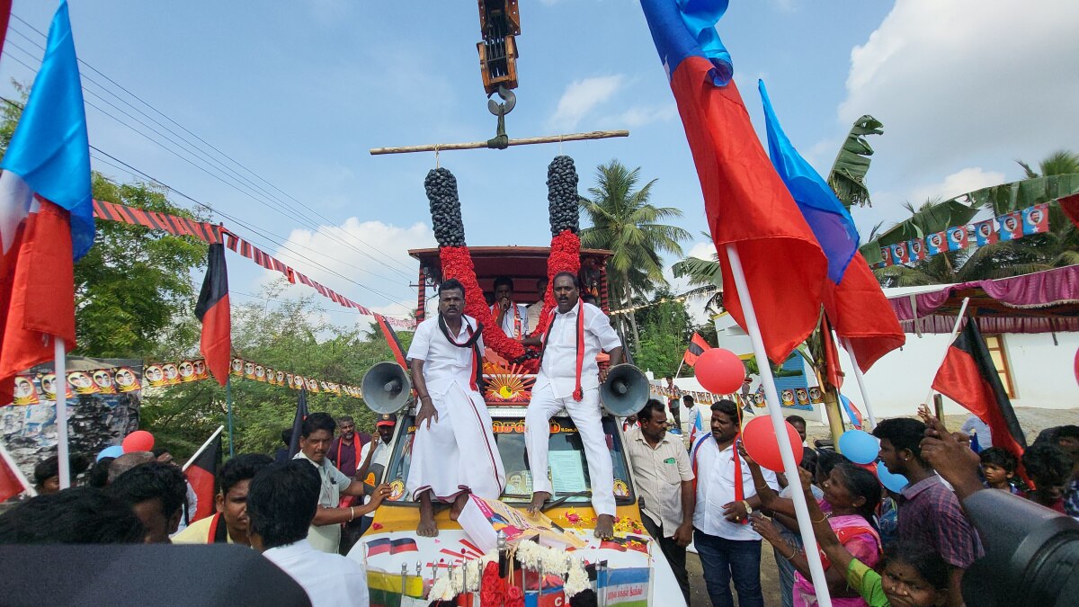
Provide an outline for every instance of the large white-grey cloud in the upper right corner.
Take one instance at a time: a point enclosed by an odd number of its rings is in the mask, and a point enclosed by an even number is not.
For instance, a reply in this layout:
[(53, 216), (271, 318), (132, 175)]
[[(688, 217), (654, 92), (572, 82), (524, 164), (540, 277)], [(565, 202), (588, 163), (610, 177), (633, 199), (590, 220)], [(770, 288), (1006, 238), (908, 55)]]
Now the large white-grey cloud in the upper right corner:
[(850, 54), (844, 124), (885, 124), (874, 165), (909, 180), (1079, 139), (1079, 2), (897, 0)]

